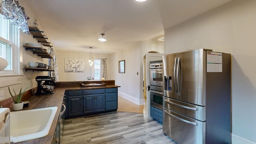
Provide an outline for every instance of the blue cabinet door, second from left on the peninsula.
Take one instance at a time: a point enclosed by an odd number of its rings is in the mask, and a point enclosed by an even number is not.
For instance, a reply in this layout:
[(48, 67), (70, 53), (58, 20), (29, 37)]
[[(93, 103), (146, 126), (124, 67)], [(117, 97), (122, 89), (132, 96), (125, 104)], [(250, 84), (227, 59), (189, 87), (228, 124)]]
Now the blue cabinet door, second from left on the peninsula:
[(95, 96), (84, 96), (84, 114), (94, 112)]

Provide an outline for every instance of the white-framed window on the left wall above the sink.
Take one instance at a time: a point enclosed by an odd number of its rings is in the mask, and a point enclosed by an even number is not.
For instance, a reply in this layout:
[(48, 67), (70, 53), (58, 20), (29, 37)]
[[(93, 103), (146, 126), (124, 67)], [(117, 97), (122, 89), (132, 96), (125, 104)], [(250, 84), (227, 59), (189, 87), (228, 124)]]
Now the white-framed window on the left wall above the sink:
[(18, 74), (19, 30), (0, 14), (0, 57), (8, 62), (8, 66), (0, 74)]

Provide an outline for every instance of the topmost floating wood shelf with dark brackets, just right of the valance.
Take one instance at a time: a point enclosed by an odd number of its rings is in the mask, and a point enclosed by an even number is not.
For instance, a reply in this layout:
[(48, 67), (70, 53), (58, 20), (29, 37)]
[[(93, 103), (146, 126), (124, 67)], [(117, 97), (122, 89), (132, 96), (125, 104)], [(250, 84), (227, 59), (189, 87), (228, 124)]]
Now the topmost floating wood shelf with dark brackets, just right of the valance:
[(52, 47), (50, 45), (50, 42), (48, 42), (46, 39), (48, 39), (46, 36), (44, 36), (42, 33), (44, 33), (44, 31), (40, 31), (39, 28), (37, 26), (28, 26), (29, 28), (29, 32), (30, 34), (33, 35), (33, 37), (38, 40), (38, 43), (42, 44), (43, 46), (49, 46)]

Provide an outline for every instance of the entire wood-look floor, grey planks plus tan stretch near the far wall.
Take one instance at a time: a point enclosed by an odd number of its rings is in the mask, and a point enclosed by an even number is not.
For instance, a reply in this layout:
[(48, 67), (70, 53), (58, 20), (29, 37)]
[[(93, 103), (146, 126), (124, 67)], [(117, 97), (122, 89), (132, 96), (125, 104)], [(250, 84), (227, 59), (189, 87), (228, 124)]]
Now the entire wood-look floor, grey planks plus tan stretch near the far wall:
[(164, 136), (162, 124), (147, 118), (146, 106), (118, 101), (117, 112), (66, 119), (62, 144), (176, 144)]

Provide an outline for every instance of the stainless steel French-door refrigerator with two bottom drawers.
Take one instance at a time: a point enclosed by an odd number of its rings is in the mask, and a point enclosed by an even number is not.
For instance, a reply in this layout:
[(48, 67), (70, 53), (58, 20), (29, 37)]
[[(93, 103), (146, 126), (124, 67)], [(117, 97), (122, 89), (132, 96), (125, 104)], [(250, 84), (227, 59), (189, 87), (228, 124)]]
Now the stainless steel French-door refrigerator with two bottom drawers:
[(231, 143), (231, 55), (163, 56), (163, 132), (179, 144)]

